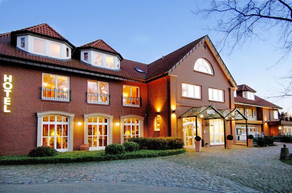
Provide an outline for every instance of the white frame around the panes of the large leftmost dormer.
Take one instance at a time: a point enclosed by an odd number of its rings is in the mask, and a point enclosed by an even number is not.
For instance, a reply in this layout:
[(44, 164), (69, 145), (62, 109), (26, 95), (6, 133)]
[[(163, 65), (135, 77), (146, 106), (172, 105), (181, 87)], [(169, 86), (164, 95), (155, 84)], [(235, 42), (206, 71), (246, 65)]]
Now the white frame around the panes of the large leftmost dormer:
[[(25, 37), (25, 48), (22, 48), (20, 46), (20, 38), (23, 38)], [(45, 42), (45, 53), (42, 54), (42, 53), (35, 53), (33, 51), (33, 40), (34, 39), (37, 39), (37, 40), (41, 40), (41, 41), (44, 41)], [(48, 56), (48, 57), (51, 57), (51, 58), (56, 58), (54, 56), (50, 56), (50, 43), (54, 43), (54, 44), (59, 44), (60, 45), (60, 57), (58, 57), (57, 59), (71, 59), (71, 49), (72, 47), (69, 46), (67, 43), (65, 42), (61, 42), (61, 41), (57, 41), (57, 40), (53, 40), (53, 39), (48, 39), (48, 38), (44, 38), (44, 37), (41, 37), (41, 36), (38, 36), (38, 35), (30, 35), (30, 34), (26, 34), (26, 35), (19, 35), (17, 36), (17, 47), (19, 49), (22, 49), (24, 51), (27, 51), (29, 53), (33, 53), (33, 54), (36, 54), (36, 55), (40, 55), (40, 56)], [(66, 49), (69, 49), (69, 56), (67, 57), (67, 51)]]

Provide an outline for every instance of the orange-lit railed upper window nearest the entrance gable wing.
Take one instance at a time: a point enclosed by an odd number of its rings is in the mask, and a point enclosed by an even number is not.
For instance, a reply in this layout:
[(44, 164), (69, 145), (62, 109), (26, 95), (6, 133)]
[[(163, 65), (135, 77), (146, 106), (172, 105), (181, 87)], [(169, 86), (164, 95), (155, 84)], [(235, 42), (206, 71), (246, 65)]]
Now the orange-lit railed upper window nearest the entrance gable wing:
[(139, 87), (123, 85), (123, 105), (140, 106)]

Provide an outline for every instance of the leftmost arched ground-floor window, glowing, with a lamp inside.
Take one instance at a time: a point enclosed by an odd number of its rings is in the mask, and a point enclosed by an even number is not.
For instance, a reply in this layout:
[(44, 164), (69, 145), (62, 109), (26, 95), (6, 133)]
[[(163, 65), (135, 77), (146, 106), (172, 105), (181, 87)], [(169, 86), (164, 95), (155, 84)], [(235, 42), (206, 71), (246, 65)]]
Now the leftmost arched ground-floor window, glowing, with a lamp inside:
[(45, 116), (42, 130), (42, 146), (50, 146), (58, 151), (68, 150), (68, 117)]

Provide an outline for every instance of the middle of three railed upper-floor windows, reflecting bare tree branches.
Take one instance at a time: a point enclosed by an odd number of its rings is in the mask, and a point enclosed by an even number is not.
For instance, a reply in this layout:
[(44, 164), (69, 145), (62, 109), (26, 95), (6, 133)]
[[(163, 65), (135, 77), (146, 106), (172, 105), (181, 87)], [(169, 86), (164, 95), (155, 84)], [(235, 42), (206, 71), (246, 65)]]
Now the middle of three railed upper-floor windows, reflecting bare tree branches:
[(108, 83), (87, 81), (87, 102), (109, 104)]

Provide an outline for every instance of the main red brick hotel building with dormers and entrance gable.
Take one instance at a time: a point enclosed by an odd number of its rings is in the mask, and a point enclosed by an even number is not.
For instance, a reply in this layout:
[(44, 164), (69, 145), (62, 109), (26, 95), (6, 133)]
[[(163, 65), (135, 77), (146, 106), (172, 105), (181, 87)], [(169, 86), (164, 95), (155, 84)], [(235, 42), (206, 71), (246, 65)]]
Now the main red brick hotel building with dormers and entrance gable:
[(222, 117), (179, 118), (194, 107), (211, 106), (207, 117), (234, 108), (237, 84), (208, 35), (143, 64), (103, 40), (75, 47), (40, 24), (0, 34), (0, 77), (0, 155), (42, 145), (97, 150), (139, 136), (184, 137), (186, 147), (196, 134), (211, 145), (235, 136)]

